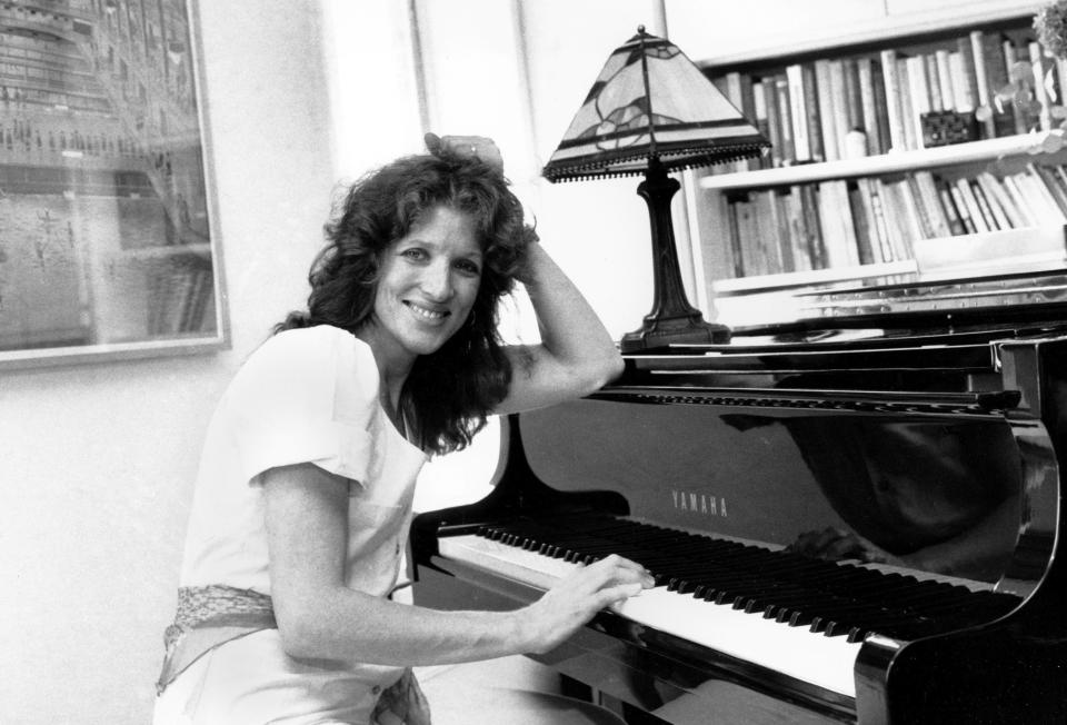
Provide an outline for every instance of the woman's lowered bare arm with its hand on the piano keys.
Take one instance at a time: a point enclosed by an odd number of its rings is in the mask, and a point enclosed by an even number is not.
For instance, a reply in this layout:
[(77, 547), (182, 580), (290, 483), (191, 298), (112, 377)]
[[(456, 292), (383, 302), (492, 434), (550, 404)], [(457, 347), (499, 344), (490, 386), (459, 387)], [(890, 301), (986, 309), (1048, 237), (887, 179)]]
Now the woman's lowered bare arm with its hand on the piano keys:
[(271, 597), (297, 657), (433, 665), (550, 649), (599, 609), (651, 586), (610, 557), (516, 612), (439, 612), (345, 586), (349, 481), (311, 464), (263, 474)]

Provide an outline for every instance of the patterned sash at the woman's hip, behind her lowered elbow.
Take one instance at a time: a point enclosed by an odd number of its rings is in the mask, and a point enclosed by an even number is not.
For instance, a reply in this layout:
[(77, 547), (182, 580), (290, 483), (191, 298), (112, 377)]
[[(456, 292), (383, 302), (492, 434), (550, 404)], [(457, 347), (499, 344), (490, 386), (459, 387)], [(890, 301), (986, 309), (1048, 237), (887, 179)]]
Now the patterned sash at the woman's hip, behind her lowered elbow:
[(167, 653), (156, 683), (157, 694), (219, 645), (277, 626), (266, 594), (222, 584), (179, 587), (174, 623), (163, 633)]

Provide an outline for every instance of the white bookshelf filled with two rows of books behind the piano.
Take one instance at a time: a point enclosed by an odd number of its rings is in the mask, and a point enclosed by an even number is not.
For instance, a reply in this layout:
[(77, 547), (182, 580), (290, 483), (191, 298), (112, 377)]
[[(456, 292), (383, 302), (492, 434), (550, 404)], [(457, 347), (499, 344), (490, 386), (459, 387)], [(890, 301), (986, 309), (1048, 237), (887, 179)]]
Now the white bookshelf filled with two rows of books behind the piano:
[(1037, 42), (1037, 7), (700, 63), (774, 149), (690, 172), (698, 301), (762, 324), (801, 288), (1063, 268), (1067, 63)]

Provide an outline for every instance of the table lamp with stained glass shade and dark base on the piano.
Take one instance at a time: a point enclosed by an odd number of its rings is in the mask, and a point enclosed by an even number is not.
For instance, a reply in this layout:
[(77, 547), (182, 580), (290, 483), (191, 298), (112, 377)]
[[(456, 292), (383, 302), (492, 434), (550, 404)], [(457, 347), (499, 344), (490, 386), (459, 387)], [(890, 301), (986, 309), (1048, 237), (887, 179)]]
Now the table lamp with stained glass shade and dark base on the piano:
[(617, 48), (589, 90), (542, 175), (549, 181), (645, 176), (654, 301), (624, 352), (671, 342), (726, 342), (730, 330), (707, 322), (686, 299), (670, 213), (681, 187), (670, 171), (759, 156), (770, 143), (677, 46), (637, 29)]

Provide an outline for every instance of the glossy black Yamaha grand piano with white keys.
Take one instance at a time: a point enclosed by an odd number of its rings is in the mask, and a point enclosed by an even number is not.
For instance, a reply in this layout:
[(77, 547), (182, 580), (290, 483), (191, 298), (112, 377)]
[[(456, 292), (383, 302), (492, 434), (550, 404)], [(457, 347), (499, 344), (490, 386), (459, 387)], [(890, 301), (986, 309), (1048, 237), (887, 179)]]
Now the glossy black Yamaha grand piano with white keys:
[(629, 723), (1067, 722), (1067, 275), (795, 299), (507, 418), (492, 491), (413, 523), (416, 602), (619, 553), (658, 586), (538, 659)]

